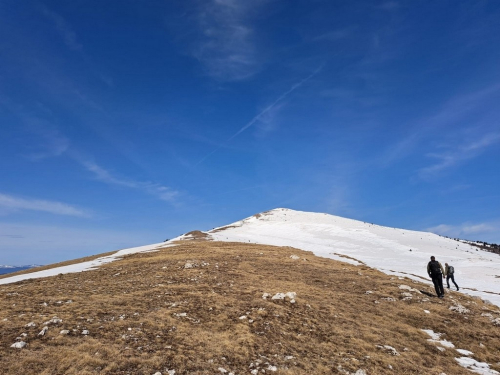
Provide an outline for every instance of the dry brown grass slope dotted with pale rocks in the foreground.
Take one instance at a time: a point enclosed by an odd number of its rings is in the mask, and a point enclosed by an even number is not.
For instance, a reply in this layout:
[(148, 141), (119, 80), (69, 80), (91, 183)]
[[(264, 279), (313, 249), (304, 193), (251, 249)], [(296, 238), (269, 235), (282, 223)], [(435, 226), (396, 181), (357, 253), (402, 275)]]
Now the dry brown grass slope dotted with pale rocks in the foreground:
[[(429, 284), (290, 247), (181, 242), (95, 271), (0, 286), (0, 368), (3, 374), (216, 374), (219, 368), (250, 374), (260, 361), (259, 369), (276, 366), (266, 373), (278, 375), (470, 374), (457, 365), (455, 350), (439, 351), (421, 331), (433, 329), (500, 370), (500, 329), (481, 316), (500, 317), (496, 307), (455, 292), (444, 300), (414, 293), (403, 301), (401, 284), (432, 292)], [(296, 303), (262, 298), (278, 292), (296, 292)], [(454, 303), (470, 312), (450, 311)], [(38, 336), (54, 316), (63, 322)], [(26, 328), (30, 322), (37, 326)], [(63, 329), (70, 334), (61, 335)], [(23, 333), (28, 346), (10, 348)]]

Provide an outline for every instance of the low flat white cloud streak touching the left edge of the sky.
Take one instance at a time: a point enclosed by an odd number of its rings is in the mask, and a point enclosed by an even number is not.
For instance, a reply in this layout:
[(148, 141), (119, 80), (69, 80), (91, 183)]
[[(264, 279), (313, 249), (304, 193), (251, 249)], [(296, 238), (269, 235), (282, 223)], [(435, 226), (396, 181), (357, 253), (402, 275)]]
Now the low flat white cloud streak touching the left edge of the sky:
[(66, 203), (40, 199), (25, 199), (0, 193), (0, 207), (8, 210), (42, 211), (55, 215), (88, 217), (89, 214)]

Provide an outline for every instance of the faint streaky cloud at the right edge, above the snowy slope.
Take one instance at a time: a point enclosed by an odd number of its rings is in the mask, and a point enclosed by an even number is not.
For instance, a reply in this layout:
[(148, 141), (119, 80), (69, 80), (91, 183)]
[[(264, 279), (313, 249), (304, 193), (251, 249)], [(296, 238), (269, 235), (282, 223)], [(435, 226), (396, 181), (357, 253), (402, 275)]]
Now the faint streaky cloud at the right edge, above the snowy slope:
[(427, 156), (437, 159), (438, 162), (428, 167), (422, 168), (419, 171), (419, 176), (426, 178), (434, 176), (447, 168), (454, 167), (462, 162), (473, 159), (487, 149), (500, 142), (500, 133), (486, 134), (480, 139), (464, 143), (459, 146), (448, 145), (449, 150), (442, 153), (431, 153)]

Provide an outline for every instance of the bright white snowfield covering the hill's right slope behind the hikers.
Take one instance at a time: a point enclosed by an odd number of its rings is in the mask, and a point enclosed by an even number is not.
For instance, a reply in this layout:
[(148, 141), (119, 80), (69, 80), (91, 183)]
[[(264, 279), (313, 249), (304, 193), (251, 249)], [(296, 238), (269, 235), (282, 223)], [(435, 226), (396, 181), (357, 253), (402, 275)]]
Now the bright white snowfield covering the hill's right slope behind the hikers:
[(318, 256), (352, 264), (364, 263), (387, 274), (429, 283), (426, 267), (430, 256), (434, 255), (443, 267), (445, 262), (454, 266), (455, 280), (461, 291), (500, 306), (499, 255), (433, 233), (285, 208), (257, 214), (206, 233), (215, 241), (296, 247)]

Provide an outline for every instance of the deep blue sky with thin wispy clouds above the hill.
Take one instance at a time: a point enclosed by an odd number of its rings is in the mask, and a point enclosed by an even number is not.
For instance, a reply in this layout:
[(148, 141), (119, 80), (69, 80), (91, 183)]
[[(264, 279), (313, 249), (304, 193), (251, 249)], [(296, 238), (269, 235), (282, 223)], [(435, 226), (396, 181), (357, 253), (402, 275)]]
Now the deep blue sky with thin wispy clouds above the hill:
[(500, 243), (497, 1), (0, 3), (0, 264), (277, 207)]

